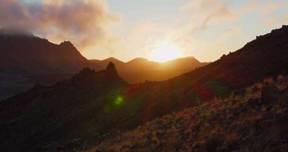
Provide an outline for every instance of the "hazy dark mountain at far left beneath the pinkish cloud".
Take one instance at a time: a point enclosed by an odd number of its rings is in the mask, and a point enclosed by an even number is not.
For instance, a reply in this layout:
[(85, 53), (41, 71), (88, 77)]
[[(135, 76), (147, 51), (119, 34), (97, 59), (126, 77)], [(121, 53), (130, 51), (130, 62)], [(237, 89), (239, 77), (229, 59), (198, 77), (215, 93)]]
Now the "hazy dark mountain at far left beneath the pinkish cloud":
[(36, 82), (53, 84), (90, 67), (69, 41), (53, 44), (32, 33), (0, 29), (0, 100), (31, 88)]

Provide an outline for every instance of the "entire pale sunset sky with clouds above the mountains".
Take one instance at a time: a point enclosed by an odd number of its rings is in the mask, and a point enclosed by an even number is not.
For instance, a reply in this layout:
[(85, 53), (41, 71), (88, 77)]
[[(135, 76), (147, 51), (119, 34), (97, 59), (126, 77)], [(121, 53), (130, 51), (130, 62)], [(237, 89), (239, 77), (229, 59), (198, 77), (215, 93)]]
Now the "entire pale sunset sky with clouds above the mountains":
[(288, 0), (0, 0), (0, 27), (69, 40), (88, 59), (153, 60), (173, 48), (214, 61), (288, 24), (287, 8)]

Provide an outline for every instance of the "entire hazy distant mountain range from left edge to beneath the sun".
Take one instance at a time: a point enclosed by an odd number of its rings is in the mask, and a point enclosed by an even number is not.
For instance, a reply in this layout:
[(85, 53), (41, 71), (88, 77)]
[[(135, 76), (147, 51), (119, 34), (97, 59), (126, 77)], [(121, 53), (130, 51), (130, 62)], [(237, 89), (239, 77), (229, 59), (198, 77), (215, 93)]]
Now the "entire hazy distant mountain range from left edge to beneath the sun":
[[(110, 61), (118, 67), (119, 75), (130, 83), (166, 80), (205, 65), (195, 63), (188, 68), (170, 70), (158, 69), (159, 63), (143, 58), (127, 63), (113, 57), (87, 60), (69, 41), (54, 44), (32, 33), (9, 28), (0, 29), (0, 50), (0, 100), (26, 91), (37, 82), (51, 85), (68, 79), (84, 67), (105, 69)], [(186, 65), (178, 65), (182, 66)]]

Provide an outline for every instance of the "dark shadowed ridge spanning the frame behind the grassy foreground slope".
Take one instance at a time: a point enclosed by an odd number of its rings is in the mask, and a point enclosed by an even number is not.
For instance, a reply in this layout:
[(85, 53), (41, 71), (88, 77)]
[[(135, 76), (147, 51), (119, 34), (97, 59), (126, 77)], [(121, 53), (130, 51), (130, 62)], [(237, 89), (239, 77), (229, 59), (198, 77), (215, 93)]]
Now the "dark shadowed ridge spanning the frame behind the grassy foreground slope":
[[(135, 128), (172, 111), (221, 101), (231, 94), (241, 96), (246, 86), (269, 76), (287, 75), (287, 52), (288, 26), (283, 25), (215, 62), (165, 81), (127, 84), (111, 63), (105, 71), (85, 68), (68, 81), (49, 87), (36, 85), (2, 101), (0, 129), (6, 131), (0, 137), (0, 148), (85, 150), (118, 130)], [(81, 74), (90, 72), (100, 76)], [(176, 122), (180, 125), (181, 120)]]

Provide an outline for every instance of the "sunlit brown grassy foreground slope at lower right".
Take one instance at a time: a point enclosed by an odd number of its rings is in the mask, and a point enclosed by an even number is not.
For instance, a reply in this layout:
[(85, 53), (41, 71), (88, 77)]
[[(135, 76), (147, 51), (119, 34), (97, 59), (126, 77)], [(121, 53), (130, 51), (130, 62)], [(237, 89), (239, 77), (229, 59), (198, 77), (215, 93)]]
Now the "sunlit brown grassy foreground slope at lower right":
[[(107, 135), (87, 151), (287, 151), (288, 76)], [(69, 149), (72, 146), (67, 146)]]

